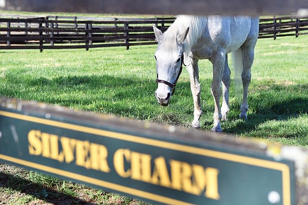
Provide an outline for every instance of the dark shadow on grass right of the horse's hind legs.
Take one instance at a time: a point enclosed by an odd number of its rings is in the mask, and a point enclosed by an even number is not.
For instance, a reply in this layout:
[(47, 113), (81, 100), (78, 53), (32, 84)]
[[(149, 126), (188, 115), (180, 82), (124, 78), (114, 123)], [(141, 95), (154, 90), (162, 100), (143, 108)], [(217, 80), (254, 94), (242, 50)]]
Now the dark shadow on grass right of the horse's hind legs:
[[(229, 119), (232, 126), (227, 126), (228, 121), (223, 122), (227, 127), (226, 132), (247, 134), (258, 131), (265, 122), (288, 121), (308, 113), (308, 85), (276, 85), (268, 90), (253, 92), (248, 97), (248, 104), (251, 111), (248, 111), (247, 120), (238, 119), (239, 105), (237, 105), (236, 113), (233, 110), (230, 111)], [(231, 109), (235, 108), (231, 107)], [(275, 130), (271, 130), (271, 127), (267, 132), (275, 135)], [(297, 137), (298, 134), (294, 132), (294, 134), (282, 137)]]

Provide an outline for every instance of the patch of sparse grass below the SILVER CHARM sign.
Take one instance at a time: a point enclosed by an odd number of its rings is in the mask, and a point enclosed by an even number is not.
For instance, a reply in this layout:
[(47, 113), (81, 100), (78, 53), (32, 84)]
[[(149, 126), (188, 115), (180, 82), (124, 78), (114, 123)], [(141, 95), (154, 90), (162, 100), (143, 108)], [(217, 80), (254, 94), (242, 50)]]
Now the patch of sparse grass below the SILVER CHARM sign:
[(0, 204), (149, 205), (70, 181), (0, 164)]

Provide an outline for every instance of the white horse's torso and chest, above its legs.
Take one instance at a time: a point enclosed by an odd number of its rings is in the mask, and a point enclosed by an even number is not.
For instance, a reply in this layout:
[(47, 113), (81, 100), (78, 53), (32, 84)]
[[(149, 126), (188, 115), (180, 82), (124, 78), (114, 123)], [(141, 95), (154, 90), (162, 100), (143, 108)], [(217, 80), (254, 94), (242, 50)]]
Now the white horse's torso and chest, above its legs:
[(207, 16), (202, 37), (191, 52), (199, 59), (210, 58), (211, 53), (223, 48), (226, 53), (237, 50), (247, 38), (258, 36), (259, 19), (249, 16)]

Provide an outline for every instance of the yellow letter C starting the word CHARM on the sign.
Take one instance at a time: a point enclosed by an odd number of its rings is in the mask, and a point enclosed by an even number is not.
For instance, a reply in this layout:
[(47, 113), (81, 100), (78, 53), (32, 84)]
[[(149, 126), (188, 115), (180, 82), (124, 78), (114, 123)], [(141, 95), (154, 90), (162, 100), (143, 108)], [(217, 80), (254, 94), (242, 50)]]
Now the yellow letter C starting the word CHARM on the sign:
[(127, 178), (130, 177), (130, 169), (125, 171), (125, 161), (130, 162), (130, 150), (128, 149), (119, 149), (115, 151), (113, 155), (113, 166), (115, 171), (119, 174), (119, 176)]

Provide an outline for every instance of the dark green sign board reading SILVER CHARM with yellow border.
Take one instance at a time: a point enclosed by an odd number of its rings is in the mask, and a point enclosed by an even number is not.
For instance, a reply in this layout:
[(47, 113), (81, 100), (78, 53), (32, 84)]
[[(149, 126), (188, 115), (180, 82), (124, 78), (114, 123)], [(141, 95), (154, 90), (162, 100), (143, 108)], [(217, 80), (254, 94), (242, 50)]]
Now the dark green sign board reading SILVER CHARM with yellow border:
[(294, 162), (233, 140), (22, 101), (0, 107), (1, 162), (157, 204), (295, 204)]

